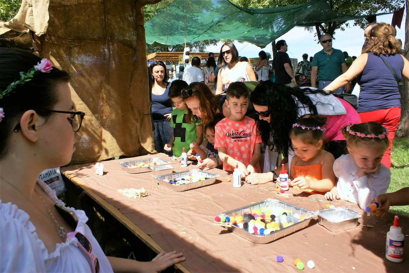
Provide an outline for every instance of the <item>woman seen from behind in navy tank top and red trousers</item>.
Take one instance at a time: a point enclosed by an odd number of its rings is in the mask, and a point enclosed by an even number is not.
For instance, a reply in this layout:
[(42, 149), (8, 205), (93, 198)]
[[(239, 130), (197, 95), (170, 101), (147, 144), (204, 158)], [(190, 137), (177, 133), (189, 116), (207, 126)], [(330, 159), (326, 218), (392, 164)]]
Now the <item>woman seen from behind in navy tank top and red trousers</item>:
[(400, 120), (399, 82), (409, 80), (409, 61), (400, 54), (402, 44), (395, 38), (396, 29), (387, 23), (373, 27), (368, 44), (344, 74), (326, 90), (336, 90), (357, 76), (360, 95), (357, 112), (362, 122), (375, 121), (389, 130), (389, 147), (382, 163), (391, 168), (393, 136)]

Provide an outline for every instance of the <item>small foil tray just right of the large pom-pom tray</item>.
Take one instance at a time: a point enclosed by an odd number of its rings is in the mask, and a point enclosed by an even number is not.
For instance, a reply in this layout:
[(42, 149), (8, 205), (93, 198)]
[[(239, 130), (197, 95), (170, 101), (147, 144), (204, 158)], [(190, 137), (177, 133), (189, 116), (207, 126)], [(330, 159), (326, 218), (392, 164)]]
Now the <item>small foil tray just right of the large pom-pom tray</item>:
[(362, 216), (343, 207), (321, 209), (317, 214), (318, 223), (332, 232), (355, 228), (358, 225), (358, 219)]

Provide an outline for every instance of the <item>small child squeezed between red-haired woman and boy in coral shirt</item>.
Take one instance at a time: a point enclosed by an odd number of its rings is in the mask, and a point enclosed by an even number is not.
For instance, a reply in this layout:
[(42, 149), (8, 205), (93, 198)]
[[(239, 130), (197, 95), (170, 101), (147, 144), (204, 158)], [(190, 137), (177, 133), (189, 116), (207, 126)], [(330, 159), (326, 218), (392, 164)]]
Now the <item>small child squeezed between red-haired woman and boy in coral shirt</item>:
[(200, 146), (197, 144), (196, 145), (193, 144), (193, 147), (191, 146), (191, 148), (193, 148), (192, 149), (193, 153), (199, 154), (200, 158), (216, 158), (217, 163), (218, 163), (216, 168), (220, 168), (220, 169), (223, 166), (223, 162), (220, 162), (219, 154), (217, 150), (214, 149), (214, 137), (215, 137), (214, 127), (221, 119), (222, 119), (222, 115), (216, 114), (215, 119), (205, 126), (206, 141), (204, 141), (202, 145)]

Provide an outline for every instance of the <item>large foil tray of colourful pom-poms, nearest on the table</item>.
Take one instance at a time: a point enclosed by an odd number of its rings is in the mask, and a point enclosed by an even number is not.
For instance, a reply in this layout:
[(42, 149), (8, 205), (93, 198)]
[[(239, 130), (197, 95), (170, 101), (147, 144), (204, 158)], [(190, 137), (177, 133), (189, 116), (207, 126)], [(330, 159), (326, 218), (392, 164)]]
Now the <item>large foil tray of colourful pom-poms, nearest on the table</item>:
[[(242, 216), (243, 218), (245, 218), (244, 222), (249, 222), (249, 220), (246, 219), (246, 215), (253, 214), (256, 211), (260, 211), (261, 213), (271, 211), (272, 214), (276, 215), (275, 222), (279, 224), (280, 230), (272, 231), (268, 235), (254, 235), (252, 233), (249, 233), (248, 229), (241, 229), (238, 226), (226, 226), (225, 228), (229, 231), (232, 231), (233, 233), (236, 233), (240, 237), (249, 240), (250, 242), (256, 244), (267, 244), (307, 227), (308, 224), (310, 224), (311, 219), (316, 216), (313, 211), (309, 211), (307, 209), (303, 209), (298, 206), (294, 206), (292, 204), (288, 204), (275, 199), (267, 199), (255, 204), (243, 206), (239, 209), (226, 211), (224, 213), (221, 213), (220, 215), (229, 216), (230, 219), (232, 219), (232, 217), (236, 218), (237, 216)], [(284, 212), (289, 216), (287, 217), (287, 222), (291, 221), (294, 223), (293, 225), (287, 226), (285, 228), (283, 227), (283, 223), (280, 220), (280, 215), (282, 215)], [(301, 221), (300, 218), (303, 218), (303, 220)], [(266, 223), (268, 222), (271, 221), (266, 220)]]

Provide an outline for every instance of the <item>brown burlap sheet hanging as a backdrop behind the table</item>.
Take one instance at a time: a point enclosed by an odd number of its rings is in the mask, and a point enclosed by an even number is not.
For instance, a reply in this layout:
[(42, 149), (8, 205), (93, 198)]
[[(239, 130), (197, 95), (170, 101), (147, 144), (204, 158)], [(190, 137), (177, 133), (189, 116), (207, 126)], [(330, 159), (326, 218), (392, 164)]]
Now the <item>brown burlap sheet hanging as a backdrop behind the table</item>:
[(26, 26), (45, 32), (40, 56), (72, 75), (72, 100), (85, 112), (72, 163), (153, 153), (140, 1), (24, 0), (24, 8), (20, 21), (33, 18)]

